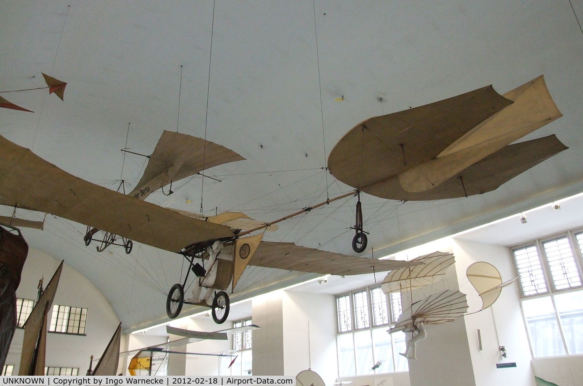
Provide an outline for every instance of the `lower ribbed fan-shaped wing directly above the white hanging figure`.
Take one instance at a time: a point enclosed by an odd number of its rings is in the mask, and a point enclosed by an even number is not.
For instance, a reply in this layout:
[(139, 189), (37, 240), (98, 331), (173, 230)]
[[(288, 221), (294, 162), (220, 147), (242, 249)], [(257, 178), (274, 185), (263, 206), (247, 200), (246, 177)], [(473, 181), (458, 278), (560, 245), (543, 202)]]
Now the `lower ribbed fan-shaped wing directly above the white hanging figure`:
[(415, 325), (441, 324), (453, 321), (468, 311), (465, 293), (447, 291), (434, 293), (423, 300), (413, 303), (399, 316), (395, 327), (388, 330), (389, 334), (396, 331), (414, 331)]

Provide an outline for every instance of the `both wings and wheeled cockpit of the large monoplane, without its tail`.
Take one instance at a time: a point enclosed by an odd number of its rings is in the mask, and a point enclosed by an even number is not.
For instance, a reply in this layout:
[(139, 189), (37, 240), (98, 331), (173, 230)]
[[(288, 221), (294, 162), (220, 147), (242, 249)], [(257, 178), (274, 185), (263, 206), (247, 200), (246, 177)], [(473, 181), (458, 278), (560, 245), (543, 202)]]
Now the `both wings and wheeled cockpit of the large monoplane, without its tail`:
[[(206, 142), (212, 148), (212, 143)], [(206, 219), (185, 215), (77, 178), (1, 136), (0, 149), (1, 204), (51, 213), (126, 240), (182, 254), (189, 267), (184, 282), (175, 284), (168, 293), (166, 311), (171, 318), (180, 314), (186, 302), (212, 307), (213, 319), (223, 323), (229, 313), (229, 296), (224, 290), (237, 285), (247, 265), (357, 275), (417, 264), (346, 256), (293, 243), (261, 242), (262, 233), (243, 238), (257, 229), (241, 232), (226, 225), (240, 219), (237, 213)], [(208, 162), (216, 161), (210, 157)], [(194, 279), (192, 297), (184, 300), (190, 272), (198, 278)]]

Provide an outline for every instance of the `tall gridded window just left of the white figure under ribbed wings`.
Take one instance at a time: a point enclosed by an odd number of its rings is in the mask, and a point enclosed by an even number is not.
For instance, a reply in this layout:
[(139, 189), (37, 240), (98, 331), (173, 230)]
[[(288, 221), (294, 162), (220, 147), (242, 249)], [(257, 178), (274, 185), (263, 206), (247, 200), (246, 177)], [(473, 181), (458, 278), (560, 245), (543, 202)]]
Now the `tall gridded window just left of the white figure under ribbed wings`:
[(385, 295), (380, 286), (336, 295), (339, 377), (408, 370), (398, 355), (405, 351), (405, 335), (387, 333), (401, 313), (401, 294)]

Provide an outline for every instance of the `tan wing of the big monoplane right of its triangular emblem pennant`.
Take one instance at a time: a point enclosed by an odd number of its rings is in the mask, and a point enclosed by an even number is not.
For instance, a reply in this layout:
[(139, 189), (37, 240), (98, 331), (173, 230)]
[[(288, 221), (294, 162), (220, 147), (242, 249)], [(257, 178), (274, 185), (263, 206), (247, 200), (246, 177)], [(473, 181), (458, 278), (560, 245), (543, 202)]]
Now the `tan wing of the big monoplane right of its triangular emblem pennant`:
[(378, 260), (301, 247), (294, 243), (261, 242), (249, 265), (321, 275), (360, 275), (421, 264), (415, 261)]

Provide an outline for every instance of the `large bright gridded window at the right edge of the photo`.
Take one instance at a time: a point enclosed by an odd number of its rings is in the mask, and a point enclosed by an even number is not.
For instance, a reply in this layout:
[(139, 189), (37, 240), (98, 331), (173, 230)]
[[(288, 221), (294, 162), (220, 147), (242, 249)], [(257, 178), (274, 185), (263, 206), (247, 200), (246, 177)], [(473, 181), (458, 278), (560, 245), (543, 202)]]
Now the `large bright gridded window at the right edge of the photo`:
[(583, 232), (512, 248), (534, 357), (583, 354)]

